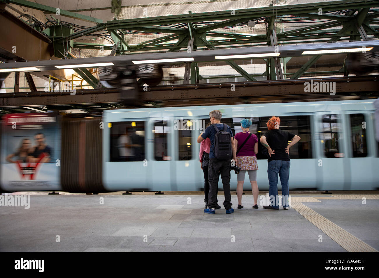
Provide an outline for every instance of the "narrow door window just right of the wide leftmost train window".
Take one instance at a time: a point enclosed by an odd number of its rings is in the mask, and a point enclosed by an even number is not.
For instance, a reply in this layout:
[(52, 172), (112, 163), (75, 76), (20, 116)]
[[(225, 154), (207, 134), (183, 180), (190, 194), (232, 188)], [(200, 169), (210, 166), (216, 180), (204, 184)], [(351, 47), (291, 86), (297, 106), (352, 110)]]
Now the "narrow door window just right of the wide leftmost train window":
[(154, 158), (155, 160), (171, 160), (168, 156), (168, 136), (171, 132), (168, 121), (160, 120), (154, 122)]

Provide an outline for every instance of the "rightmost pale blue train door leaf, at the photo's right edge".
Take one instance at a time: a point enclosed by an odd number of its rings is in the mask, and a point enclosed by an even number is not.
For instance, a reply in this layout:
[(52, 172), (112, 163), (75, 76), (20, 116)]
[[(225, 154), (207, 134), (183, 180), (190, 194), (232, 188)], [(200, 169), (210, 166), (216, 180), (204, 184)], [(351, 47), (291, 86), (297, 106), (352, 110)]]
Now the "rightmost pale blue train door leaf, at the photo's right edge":
[(372, 113), (346, 115), (350, 131), (348, 154), (351, 162), (351, 190), (371, 190), (379, 187), (372, 115)]

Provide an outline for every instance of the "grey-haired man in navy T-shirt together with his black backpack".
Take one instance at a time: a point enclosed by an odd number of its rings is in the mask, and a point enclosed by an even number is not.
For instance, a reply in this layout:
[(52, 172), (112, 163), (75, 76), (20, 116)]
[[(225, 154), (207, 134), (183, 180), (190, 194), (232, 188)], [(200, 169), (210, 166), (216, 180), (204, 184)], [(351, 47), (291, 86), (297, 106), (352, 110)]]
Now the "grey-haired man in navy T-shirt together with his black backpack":
[(204, 212), (215, 214), (217, 205), (218, 172), (220, 171), (222, 187), (224, 188), (224, 207), (226, 213), (233, 213), (232, 196), (230, 196), (230, 160), (233, 158), (235, 163), (236, 150), (233, 141), (232, 129), (227, 124), (221, 123), (222, 113), (220, 110), (213, 110), (209, 113), (211, 125), (197, 138), (197, 143), (209, 138), (211, 148), (209, 152), (208, 180), (209, 196), (208, 207)]

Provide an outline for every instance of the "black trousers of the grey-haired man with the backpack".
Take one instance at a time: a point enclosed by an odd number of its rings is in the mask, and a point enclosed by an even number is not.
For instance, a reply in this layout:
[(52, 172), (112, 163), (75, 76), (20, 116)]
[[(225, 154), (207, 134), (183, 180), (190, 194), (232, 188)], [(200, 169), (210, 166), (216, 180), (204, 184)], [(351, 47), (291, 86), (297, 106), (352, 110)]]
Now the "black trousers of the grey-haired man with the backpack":
[[(220, 171), (220, 174), (218, 174), (218, 171)], [(232, 200), (232, 196), (230, 196), (230, 160), (218, 160), (217, 158), (209, 159), (208, 207), (216, 208), (219, 175), (221, 175), (222, 188), (224, 188), (224, 208), (226, 210), (229, 210), (230, 208), (232, 208), (232, 203), (230, 202)]]

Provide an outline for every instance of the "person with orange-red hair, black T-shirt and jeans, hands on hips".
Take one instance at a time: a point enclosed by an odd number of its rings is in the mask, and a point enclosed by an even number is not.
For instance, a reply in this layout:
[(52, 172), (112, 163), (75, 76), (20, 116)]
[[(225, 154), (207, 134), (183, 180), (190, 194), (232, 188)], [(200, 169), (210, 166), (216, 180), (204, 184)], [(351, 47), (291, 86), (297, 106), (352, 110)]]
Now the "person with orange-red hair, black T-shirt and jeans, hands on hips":
[[(268, 149), (267, 174), (270, 200), (269, 205), (263, 206), (263, 208), (270, 210), (279, 210), (278, 174), (282, 184), (282, 206), (284, 210), (289, 209), (290, 147), (300, 140), (298, 135), (279, 129), (279, 125), (280, 118), (271, 117), (267, 122), (268, 131), (260, 138), (262, 145)], [(288, 144), (288, 141), (291, 143)]]

